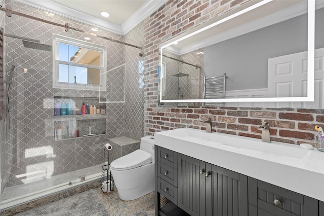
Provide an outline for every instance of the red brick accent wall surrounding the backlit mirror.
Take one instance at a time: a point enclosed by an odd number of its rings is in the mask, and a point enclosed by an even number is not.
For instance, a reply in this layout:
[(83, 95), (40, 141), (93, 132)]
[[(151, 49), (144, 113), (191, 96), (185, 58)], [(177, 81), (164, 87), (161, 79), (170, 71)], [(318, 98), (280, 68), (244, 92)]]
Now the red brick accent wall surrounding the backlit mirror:
[(144, 133), (190, 127), (206, 130), (201, 120), (213, 121), (213, 131), (261, 139), (257, 129), (270, 124), (271, 140), (315, 144), (315, 125), (324, 127), (324, 110), (245, 107), (160, 106), (157, 92), (158, 45), (247, 0), (169, 1), (144, 21)]

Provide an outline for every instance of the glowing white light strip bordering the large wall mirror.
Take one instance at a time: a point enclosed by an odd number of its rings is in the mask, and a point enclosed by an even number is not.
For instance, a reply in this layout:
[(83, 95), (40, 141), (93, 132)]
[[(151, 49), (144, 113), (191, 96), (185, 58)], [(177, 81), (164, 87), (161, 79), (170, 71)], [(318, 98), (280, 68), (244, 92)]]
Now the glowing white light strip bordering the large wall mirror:
[[(163, 62), (163, 49), (166, 47), (169, 47), (173, 45), (176, 42), (180, 42), (182, 40), (185, 40), (189, 38), (192, 35), (195, 35), (197, 33), (203, 32), (204, 30), (207, 30), (209, 28), (215, 27), (223, 22), (226, 22), (230, 19), (233, 19), (239, 15), (248, 13), (249, 11), (256, 9), (258, 7), (261, 7), (263, 5), (266, 5), (269, 2), (272, 2), (274, 0), (263, 0), (262, 2), (259, 2), (253, 6), (250, 6), (246, 9), (243, 9), (239, 12), (236, 12), (232, 15), (229, 15), (219, 21), (216, 21), (208, 26), (205, 26), (201, 29), (198, 29), (192, 33), (189, 33), (185, 35), (184, 37), (177, 39), (171, 43), (168, 43), (166, 45), (163, 45), (160, 47), (160, 62)], [(315, 56), (315, 1), (308, 0), (308, 26), (307, 26), (307, 96), (306, 97), (264, 97), (264, 98), (218, 98), (218, 99), (177, 99), (177, 100), (164, 100), (162, 98), (162, 89), (160, 88), (160, 102), (297, 102), (297, 101), (314, 101), (314, 56)], [(313, 62), (313, 63), (309, 63)], [(163, 66), (163, 65), (161, 65)], [(161, 78), (164, 78), (161, 76)], [(162, 82), (164, 82), (165, 79), (161, 79), (161, 86)]]

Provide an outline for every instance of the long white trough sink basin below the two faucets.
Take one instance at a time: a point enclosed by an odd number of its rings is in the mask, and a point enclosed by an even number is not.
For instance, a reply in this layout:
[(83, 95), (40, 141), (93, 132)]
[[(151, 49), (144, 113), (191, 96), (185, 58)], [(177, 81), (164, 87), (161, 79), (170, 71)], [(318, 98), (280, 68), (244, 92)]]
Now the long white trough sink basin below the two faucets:
[[(261, 139), (229, 135), (223, 133), (207, 133), (203, 130), (181, 128), (161, 132), (166, 138), (176, 138), (187, 142), (195, 142), (199, 145), (211, 146), (218, 149), (236, 151), (249, 150), (249, 154), (259, 156), (275, 156), (277, 158), (304, 159), (310, 151), (301, 149), (297, 145), (279, 143), (275, 141), (262, 142)], [(239, 150), (238, 150), (239, 149)]]

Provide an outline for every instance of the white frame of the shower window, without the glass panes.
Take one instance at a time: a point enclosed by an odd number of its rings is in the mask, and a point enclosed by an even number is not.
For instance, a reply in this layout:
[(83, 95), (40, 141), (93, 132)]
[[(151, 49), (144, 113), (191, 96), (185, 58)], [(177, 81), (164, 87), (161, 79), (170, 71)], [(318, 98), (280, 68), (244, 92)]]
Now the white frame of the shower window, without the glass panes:
[[(66, 62), (59, 60), (59, 43), (83, 47), (90, 50), (96, 50), (100, 52), (100, 66), (80, 64), (75, 62)], [(78, 89), (78, 90), (94, 90), (94, 91), (106, 91), (107, 90), (107, 76), (105, 73), (105, 68), (107, 68), (107, 62), (105, 59), (107, 56), (107, 49), (104, 46), (97, 44), (92, 44), (85, 41), (80, 41), (77, 39), (68, 38), (59, 34), (53, 34), (53, 88), (56, 89)], [(91, 84), (73, 84), (73, 83), (63, 83), (59, 82), (59, 64), (73, 65), (87, 68), (100, 69), (100, 85)]]

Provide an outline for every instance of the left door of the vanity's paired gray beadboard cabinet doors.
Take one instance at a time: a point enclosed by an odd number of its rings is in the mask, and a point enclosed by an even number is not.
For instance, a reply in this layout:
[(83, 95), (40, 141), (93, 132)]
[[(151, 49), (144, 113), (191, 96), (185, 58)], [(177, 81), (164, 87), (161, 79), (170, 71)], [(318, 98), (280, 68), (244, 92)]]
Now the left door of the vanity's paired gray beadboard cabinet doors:
[(205, 162), (181, 154), (178, 155), (178, 205), (190, 215), (206, 215)]

